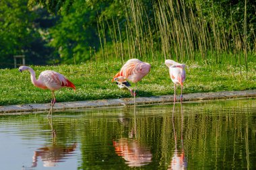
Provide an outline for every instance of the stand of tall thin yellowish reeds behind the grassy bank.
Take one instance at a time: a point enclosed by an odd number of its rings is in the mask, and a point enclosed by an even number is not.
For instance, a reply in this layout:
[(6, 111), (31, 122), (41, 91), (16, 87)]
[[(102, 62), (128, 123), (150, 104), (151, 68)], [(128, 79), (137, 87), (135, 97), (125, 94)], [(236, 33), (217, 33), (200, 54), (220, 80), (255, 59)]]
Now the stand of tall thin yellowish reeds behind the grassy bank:
[[(207, 3), (211, 10), (205, 17), (200, 1), (156, 1), (152, 4), (153, 14), (150, 14), (143, 1), (127, 0), (123, 6), (125, 22), (118, 17), (112, 18), (112, 22), (104, 16), (98, 19), (99, 57), (108, 60), (114, 51), (115, 59), (122, 62), (128, 58), (160, 62), (172, 58), (181, 62), (203, 60), (210, 65), (222, 63), (247, 67), (247, 50), (252, 47), (250, 52), (256, 51), (256, 38), (251, 37), (254, 46), (249, 46), (246, 0), (242, 33), (238, 28), (239, 21), (232, 15), (231, 5), (227, 19), (231, 23), (226, 28), (222, 6), (214, 1)], [(103, 32), (106, 30), (104, 26), (107, 26), (107, 32)], [(251, 24), (253, 35), (254, 29)], [(106, 36), (112, 40), (112, 48), (106, 48), (109, 47)]]

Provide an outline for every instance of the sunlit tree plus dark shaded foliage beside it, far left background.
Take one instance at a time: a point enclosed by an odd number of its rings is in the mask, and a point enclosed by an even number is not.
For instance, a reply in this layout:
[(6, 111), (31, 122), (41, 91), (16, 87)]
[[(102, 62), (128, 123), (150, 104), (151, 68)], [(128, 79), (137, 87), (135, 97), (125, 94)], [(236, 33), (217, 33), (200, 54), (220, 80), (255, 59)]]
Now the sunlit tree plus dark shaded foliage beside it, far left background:
[(49, 13), (36, 7), (30, 11), (27, 5), (26, 0), (0, 1), (0, 67), (13, 67), (13, 55), (24, 54), (26, 63), (35, 65), (54, 58), (43, 35), (52, 22), (46, 21)]

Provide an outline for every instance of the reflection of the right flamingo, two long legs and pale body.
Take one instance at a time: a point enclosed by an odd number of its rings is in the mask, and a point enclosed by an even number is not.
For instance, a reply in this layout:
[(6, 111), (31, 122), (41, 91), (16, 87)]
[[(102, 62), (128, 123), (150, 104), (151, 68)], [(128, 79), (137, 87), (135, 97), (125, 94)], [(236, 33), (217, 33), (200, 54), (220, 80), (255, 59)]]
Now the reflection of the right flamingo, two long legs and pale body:
[(175, 103), (172, 108), (172, 127), (175, 141), (175, 151), (172, 156), (172, 161), (170, 162), (170, 166), (168, 169), (187, 169), (187, 157), (185, 157), (185, 151), (183, 146), (183, 108), (181, 103), (181, 151), (177, 149), (177, 134), (175, 132), (174, 126), (174, 108)]

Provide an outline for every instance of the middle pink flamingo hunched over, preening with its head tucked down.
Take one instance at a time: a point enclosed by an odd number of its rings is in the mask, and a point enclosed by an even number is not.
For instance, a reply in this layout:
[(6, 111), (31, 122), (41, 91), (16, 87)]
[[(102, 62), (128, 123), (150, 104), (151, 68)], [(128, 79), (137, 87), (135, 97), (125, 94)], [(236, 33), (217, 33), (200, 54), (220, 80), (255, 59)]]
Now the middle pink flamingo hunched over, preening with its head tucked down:
[[(136, 95), (136, 85), (138, 81), (141, 81), (143, 77), (148, 75), (150, 72), (150, 64), (148, 62), (142, 62), (141, 60), (138, 60), (136, 58), (127, 60), (125, 65), (121, 68), (121, 71), (113, 77), (113, 81), (117, 81), (119, 85), (127, 87), (131, 91), (131, 95), (133, 95), (135, 99)], [(131, 81), (132, 83), (135, 83), (134, 91), (127, 85), (125, 85), (126, 80)]]

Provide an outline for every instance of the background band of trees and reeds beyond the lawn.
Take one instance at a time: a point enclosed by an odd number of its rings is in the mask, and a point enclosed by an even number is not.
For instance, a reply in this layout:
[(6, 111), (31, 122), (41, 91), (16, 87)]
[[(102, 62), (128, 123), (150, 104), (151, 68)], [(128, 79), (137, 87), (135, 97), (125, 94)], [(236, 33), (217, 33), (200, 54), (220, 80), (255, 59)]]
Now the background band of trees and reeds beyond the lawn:
[(249, 0), (1, 1), (0, 64), (25, 54), (28, 65), (171, 58), (247, 70), (255, 10)]

